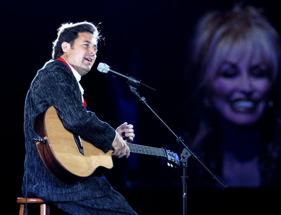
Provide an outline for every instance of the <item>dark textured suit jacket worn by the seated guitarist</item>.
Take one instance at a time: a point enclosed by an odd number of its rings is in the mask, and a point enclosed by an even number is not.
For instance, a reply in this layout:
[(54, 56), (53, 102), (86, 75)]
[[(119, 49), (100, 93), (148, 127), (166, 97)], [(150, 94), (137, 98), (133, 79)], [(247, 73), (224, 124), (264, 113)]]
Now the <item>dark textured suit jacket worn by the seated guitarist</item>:
[[(29, 96), (30, 94), (30, 96)], [(31, 100), (31, 101), (30, 101)], [(111, 189), (104, 177), (90, 176), (74, 184), (57, 179), (45, 167), (33, 141), (33, 122), (38, 114), (54, 105), (64, 127), (107, 152), (115, 130), (82, 105), (81, 91), (71, 70), (61, 61), (50, 60), (37, 72), (25, 99), (25, 173), (22, 192), (45, 201), (75, 201), (107, 195)], [(27, 180), (26, 180), (27, 178)]]

